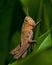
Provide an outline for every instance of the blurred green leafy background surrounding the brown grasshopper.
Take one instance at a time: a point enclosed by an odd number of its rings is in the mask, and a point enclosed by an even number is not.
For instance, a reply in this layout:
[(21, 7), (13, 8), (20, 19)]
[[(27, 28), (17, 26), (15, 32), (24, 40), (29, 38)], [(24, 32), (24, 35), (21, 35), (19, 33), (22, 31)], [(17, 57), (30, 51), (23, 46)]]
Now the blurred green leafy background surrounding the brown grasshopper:
[[(29, 10), (38, 45), (24, 59), (14, 61), (10, 50), (20, 43), (21, 26)], [(52, 0), (0, 0), (0, 65), (52, 65)]]

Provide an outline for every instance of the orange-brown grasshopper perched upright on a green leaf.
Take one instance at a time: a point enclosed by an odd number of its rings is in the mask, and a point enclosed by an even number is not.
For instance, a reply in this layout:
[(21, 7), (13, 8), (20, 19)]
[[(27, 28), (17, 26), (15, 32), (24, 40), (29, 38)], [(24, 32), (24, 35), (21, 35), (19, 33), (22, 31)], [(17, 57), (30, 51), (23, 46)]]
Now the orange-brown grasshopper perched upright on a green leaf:
[(35, 23), (35, 21), (30, 16), (25, 17), (21, 30), (21, 44), (19, 44), (10, 52), (10, 54), (14, 55), (14, 59), (25, 57), (27, 54), (27, 49), (30, 47), (30, 45), (36, 42), (36, 40), (32, 40), (33, 30), (39, 24), (39, 22), (40, 21)]

